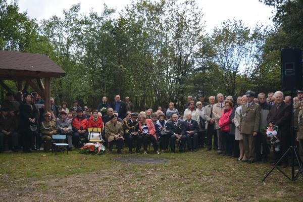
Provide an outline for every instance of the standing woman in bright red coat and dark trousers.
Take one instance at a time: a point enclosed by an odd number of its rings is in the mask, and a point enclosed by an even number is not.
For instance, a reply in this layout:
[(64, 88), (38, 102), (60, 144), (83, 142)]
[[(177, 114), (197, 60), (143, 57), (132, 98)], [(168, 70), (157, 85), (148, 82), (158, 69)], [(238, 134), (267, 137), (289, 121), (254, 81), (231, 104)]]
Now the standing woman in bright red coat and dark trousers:
[(229, 135), (229, 116), (232, 112), (233, 103), (225, 101), (225, 109), (219, 119), (219, 126), (221, 127), (221, 134), (223, 135), (223, 143), (225, 144), (225, 155), (227, 157), (232, 157), (234, 136)]

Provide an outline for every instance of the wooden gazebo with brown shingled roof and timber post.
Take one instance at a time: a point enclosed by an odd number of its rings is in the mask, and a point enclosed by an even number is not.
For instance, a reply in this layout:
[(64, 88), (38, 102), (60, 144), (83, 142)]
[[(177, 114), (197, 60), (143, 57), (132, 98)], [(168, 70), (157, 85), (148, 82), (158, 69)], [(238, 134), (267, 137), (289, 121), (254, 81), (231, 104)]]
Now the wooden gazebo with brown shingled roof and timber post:
[(0, 51), (0, 85), (11, 92), (4, 80), (17, 81), (18, 91), (31, 86), (44, 99), (47, 111), (51, 107), (51, 78), (64, 75), (65, 71), (45, 55)]

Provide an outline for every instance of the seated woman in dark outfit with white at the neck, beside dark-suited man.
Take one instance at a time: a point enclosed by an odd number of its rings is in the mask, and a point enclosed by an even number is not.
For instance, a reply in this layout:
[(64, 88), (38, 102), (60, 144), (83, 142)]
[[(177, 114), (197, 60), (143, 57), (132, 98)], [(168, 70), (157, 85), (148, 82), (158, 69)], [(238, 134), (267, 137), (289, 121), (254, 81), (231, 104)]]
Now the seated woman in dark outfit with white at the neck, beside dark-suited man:
[(170, 138), (170, 133), (168, 130), (168, 122), (165, 120), (165, 114), (159, 114), (159, 120), (156, 122), (158, 126), (157, 133), (160, 140), (160, 147), (164, 153), (168, 147), (168, 142)]

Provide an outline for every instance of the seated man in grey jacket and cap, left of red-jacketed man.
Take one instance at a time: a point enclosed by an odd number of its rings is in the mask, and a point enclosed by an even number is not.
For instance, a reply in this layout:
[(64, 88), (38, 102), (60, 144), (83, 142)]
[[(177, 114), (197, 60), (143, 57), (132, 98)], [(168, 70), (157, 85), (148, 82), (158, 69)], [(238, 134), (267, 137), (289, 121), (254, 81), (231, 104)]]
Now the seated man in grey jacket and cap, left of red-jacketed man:
[(65, 111), (60, 112), (59, 118), (57, 119), (57, 130), (61, 135), (67, 135), (68, 150), (73, 149), (73, 127), (72, 121), (67, 119)]

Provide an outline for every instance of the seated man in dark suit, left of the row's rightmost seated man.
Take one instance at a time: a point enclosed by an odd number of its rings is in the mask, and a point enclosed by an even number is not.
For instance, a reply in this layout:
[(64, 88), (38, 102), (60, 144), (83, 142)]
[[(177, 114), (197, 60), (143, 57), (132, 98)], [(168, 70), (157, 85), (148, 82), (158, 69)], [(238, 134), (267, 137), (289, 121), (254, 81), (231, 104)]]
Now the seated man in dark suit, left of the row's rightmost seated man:
[(172, 114), (171, 118), (172, 121), (168, 123), (169, 132), (171, 133), (170, 150), (171, 152), (175, 151), (176, 139), (179, 139), (180, 140), (179, 151), (183, 152), (185, 141), (186, 141), (186, 135), (182, 135), (183, 121), (178, 120), (177, 114)]

